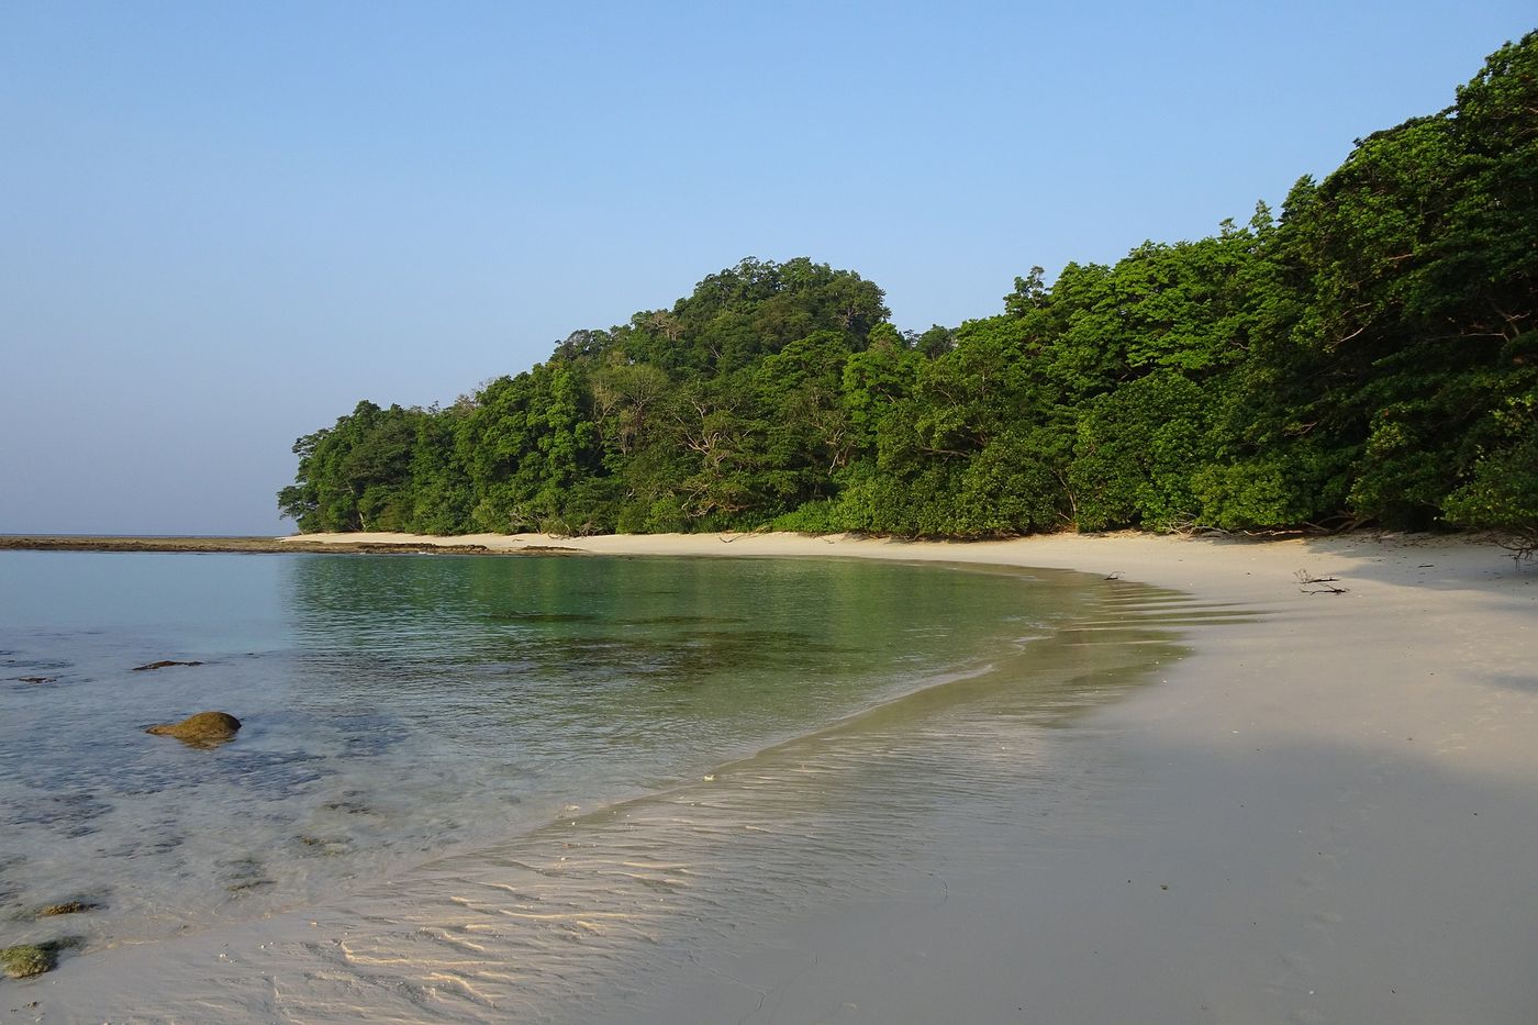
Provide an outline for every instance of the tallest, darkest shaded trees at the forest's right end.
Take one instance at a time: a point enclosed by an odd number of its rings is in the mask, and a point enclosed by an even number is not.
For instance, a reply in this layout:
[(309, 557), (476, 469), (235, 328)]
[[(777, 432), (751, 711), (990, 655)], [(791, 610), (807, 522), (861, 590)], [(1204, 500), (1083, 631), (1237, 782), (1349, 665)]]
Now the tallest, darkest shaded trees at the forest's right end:
[[(1277, 260), (1298, 292), (1258, 352), (1252, 449), (1315, 436), (1346, 465), (1349, 512), (1432, 525), (1472, 442), (1530, 368), (1538, 269), (1538, 35), (1495, 54), (1441, 114), (1360, 142), (1300, 183)], [(1292, 429), (1283, 428), (1290, 420)]]

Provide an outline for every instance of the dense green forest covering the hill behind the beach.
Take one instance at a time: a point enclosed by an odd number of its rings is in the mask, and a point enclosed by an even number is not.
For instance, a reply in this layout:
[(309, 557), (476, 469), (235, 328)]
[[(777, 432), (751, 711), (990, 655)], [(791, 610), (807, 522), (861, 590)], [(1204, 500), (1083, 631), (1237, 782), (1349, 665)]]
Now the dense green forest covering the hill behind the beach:
[(743, 260), (446, 408), (298, 439), (301, 531), (1493, 528), (1538, 542), (1538, 32), (1280, 214), (923, 334)]

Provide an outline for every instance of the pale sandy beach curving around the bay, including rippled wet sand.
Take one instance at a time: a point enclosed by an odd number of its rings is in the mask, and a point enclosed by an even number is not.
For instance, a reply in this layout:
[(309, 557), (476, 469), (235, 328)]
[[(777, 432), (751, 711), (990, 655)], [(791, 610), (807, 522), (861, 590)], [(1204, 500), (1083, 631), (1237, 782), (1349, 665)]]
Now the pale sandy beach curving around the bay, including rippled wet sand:
[[(325, 539), (306, 539), (315, 540)], [(18, 1020), (1538, 1020), (1538, 568), (1518, 569), (1496, 548), (1130, 534), (969, 545), (781, 534), (448, 540), (1070, 568), (1183, 591), (1193, 599), (1184, 608), (1253, 614), (1221, 626), (1193, 616), (1189, 657), (1050, 737), (1032, 734), (1044, 753), (966, 759), (977, 737), (1003, 750), (1003, 736), (937, 716), (923, 743), (952, 743), (966, 763), (941, 780), (950, 797), (923, 811), (924, 830), (864, 836), (855, 814), (837, 843), (811, 837), (797, 848), (772, 836), (777, 810), (806, 816), (817, 803), (827, 823), (866, 806), (861, 780), (881, 776), (872, 765), (895, 779), (910, 773), (915, 786), (944, 776), (943, 765), (904, 762), (897, 726), (872, 723), (723, 768), (737, 780), (731, 808), (704, 783), (683, 788), (321, 908), (82, 956), (6, 983), (0, 1011)], [(1338, 577), (1344, 593), (1306, 594), (1300, 569)], [(1177, 597), (1143, 600), (1158, 602)], [(901, 743), (918, 746), (912, 717), (901, 730)], [(851, 760), (877, 740), (886, 746)], [(1018, 779), (1018, 799), (972, 808), (967, 779), (989, 765), (997, 779)], [(852, 805), (840, 805), (846, 786)], [(838, 866), (840, 843), (897, 854), (861, 877), (858, 865)], [(798, 850), (804, 860), (787, 857)], [(734, 865), (751, 871), (735, 879)], [(655, 906), (643, 911), (637, 894)]]

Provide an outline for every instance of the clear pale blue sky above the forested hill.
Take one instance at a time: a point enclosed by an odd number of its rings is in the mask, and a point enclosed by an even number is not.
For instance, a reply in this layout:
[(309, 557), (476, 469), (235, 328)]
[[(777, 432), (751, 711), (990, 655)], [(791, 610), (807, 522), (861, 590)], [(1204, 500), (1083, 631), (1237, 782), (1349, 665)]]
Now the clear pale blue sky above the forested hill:
[(1532, 2), (0, 0), (0, 533), (286, 533), (294, 439), (754, 255), (898, 328), (1280, 208)]

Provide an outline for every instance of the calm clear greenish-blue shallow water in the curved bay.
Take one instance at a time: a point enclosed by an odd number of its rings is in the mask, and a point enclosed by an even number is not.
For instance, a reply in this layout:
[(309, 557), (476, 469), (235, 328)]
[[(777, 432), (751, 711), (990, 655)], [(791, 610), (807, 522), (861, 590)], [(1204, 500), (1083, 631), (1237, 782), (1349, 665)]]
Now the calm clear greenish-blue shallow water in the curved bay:
[[(1075, 574), (869, 562), (0, 553), (0, 943), (71, 897), (100, 945), (346, 893), (1097, 614)], [(238, 739), (143, 733), (201, 709)]]

